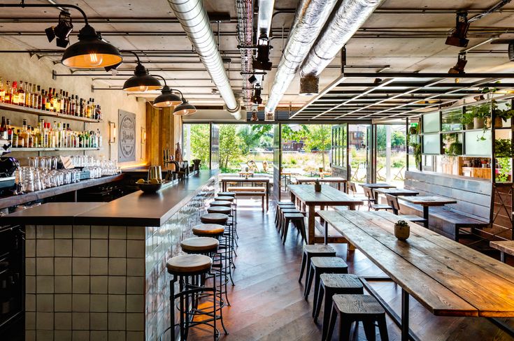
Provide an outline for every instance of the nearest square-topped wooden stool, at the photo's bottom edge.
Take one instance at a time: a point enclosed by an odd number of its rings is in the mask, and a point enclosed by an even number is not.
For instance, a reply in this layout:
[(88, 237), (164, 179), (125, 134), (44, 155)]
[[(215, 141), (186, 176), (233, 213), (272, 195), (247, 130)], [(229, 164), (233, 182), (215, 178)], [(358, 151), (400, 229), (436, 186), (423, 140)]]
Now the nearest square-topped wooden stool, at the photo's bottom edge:
[(339, 316), (339, 340), (350, 340), (350, 329), (353, 322), (362, 321), (366, 339), (374, 341), (375, 322), (380, 331), (380, 340), (389, 341), (385, 311), (376, 298), (369, 295), (334, 295), (332, 297), (332, 313), (329, 330), (325, 340), (331, 340)]

